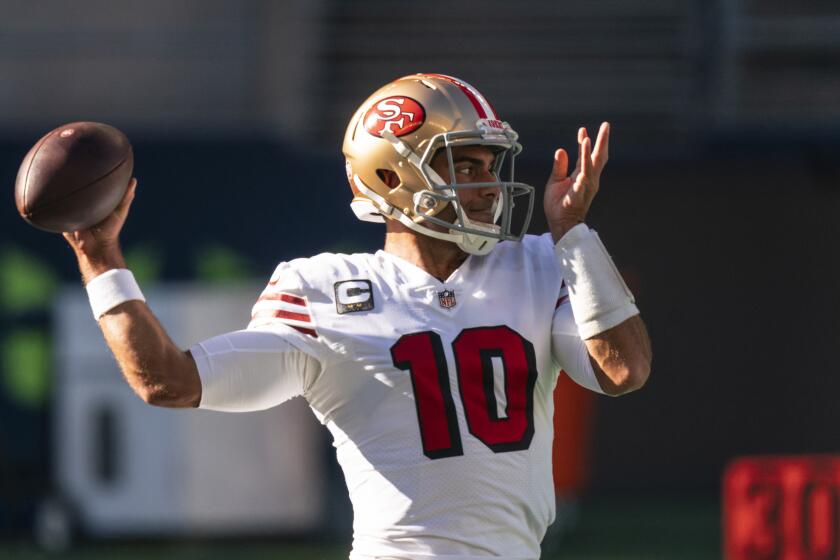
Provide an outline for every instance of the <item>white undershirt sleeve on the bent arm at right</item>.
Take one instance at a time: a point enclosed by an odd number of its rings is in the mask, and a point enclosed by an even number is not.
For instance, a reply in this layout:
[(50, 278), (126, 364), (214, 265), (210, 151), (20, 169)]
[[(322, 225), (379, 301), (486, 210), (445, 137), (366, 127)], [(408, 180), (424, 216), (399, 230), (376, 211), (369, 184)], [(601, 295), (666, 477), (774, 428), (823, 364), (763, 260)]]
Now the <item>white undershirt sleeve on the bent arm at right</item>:
[(563, 371), (581, 387), (603, 393), (592, 369), (589, 350), (580, 337), (568, 300), (554, 311), (551, 323), (551, 354)]

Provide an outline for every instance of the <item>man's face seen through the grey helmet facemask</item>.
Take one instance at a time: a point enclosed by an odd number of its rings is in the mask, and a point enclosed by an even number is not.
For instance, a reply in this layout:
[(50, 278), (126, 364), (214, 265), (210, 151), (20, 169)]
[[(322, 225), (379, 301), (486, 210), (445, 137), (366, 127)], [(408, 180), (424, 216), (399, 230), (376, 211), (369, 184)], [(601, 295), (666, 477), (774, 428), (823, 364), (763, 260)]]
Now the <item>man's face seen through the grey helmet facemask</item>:
[[(496, 154), (487, 146), (459, 146), (452, 148), (455, 163), (455, 182), (457, 184), (488, 183), (498, 181), (493, 174), (493, 162)], [(446, 150), (440, 150), (432, 158), (431, 167), (447, 183), (451, 182), (449, 161)], [(479, 187), (458, 189), (458, 200), (470, 220), (493, 223), (493, 206), (499, 198), (499, 187)], [(455, 212), (447, 207), (440, 215), (441, 219), (454, 219)]]

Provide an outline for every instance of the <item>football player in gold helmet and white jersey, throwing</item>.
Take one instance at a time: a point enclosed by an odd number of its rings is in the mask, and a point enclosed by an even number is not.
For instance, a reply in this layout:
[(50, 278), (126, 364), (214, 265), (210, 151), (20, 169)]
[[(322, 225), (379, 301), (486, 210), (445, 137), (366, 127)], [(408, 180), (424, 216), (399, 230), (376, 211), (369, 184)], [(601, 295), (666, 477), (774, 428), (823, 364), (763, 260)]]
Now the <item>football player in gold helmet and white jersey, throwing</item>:
[[(642, 386), (645, 327), (585, 224), (610, 129), (554, 154), (550, 231), (525, 235), (534, 188), (517, 133), (475, 88), (400, 78), (344, 138), (351, 207), (385, 224), (373, 254), (281, 263), (247, 328), (179, 349), (119, 248), (133, 200), (65, 233), (93, 313), (146, 402), (252, 411), (302, 396), (332, 433), (354, 510), (351, 559), (538, 558), (554, 518), (552, 391)], [(517, 220), (514, 204), (526, 219)]]

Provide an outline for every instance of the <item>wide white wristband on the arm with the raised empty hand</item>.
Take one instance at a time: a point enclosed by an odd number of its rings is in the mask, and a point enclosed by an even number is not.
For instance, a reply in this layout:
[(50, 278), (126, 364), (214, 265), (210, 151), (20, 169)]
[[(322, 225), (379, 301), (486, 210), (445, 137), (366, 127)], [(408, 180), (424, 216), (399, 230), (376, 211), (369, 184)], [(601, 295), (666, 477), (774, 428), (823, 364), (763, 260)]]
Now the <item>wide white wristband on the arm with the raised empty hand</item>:
[(639, 314), (601, 239), (586, 224), (567, 231), (554, 246), (554, 254), (569, 287), (581, 338), (591, 338)]

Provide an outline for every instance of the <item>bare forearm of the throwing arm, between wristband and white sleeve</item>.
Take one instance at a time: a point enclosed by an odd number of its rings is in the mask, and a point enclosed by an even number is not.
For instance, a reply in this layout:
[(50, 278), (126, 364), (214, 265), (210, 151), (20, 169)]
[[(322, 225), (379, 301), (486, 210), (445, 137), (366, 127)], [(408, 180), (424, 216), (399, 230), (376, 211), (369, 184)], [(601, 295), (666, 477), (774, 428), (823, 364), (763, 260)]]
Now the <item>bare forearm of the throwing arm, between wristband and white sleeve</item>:
[(99, 319), (99, 327), (126, 381), (144, 401), (198, 406), (201, 381), (195, 361), (169, 338), (145, 302), (118, 305)]

